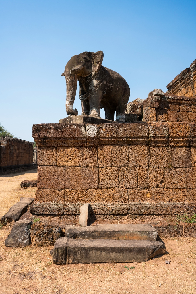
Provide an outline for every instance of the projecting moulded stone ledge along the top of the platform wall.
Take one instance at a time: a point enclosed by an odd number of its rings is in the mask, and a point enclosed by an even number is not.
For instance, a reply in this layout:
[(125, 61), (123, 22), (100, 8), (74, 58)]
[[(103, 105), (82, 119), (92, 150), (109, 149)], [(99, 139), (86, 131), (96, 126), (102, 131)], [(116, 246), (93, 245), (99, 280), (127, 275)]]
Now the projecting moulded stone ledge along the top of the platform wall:
[(195, 146), (196, 123), (159, 121), (100, 125), (37, 124), (33, 125), (33, 137), (38, 146), (47, 147), (125, 143), (151, 146)]

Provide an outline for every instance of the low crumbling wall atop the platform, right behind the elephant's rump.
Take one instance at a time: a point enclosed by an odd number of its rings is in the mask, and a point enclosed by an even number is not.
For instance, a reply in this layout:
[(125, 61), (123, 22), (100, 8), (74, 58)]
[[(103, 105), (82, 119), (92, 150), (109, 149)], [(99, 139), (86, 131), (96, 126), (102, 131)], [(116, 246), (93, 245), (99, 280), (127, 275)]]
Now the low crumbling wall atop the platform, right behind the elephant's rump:
[(155, 89), (146, 100), (128, 103), (125, 121), (196, 121), (196, 97), (176, 96)]

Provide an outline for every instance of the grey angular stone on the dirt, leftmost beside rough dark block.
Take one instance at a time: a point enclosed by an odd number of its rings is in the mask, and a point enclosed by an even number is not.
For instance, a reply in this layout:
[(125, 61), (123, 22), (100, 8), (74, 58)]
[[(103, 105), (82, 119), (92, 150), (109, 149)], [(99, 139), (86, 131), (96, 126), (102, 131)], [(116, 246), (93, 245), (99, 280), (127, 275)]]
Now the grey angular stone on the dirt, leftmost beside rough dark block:
[(32, 221), (18, 220), (5, 240), (7, 247), (25, 247), (31, 243), (30, 229)]

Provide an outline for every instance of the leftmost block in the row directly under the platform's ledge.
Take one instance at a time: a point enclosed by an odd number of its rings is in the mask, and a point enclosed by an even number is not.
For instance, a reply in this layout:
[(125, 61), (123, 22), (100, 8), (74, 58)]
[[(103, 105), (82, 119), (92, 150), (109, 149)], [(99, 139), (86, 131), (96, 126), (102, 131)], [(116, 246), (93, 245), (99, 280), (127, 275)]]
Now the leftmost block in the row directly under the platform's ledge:
[(56, 147), (39, 147), (37, 163), (39, 166), (56, 166)]

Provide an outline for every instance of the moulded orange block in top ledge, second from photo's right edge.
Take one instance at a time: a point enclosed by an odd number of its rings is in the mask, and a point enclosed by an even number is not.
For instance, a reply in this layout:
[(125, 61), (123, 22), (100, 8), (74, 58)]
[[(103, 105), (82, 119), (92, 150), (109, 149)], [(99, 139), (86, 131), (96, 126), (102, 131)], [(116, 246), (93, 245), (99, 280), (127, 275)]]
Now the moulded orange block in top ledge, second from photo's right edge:
[(189, 146), (190, 126), (188, 123), (169, 123), (169, 145)]

